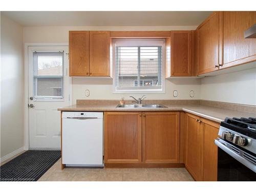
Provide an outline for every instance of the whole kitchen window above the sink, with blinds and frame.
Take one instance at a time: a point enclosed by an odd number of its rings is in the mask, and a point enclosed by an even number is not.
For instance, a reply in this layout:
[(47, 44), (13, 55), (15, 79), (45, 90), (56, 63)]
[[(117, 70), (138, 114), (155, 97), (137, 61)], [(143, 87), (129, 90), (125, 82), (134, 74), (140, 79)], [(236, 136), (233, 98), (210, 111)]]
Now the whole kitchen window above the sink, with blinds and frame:
[(164, 39), (115, 39), (113, 43), (115, 93), (164, 92)]

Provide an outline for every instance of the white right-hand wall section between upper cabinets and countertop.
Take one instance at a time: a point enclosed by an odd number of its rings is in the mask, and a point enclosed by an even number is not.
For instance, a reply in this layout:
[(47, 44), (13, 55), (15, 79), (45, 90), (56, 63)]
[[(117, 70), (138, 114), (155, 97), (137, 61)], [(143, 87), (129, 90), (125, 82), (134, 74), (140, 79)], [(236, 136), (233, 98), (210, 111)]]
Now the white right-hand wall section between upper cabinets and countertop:
[(256, 69), (202, 78), (201, 99), (256, 105)]

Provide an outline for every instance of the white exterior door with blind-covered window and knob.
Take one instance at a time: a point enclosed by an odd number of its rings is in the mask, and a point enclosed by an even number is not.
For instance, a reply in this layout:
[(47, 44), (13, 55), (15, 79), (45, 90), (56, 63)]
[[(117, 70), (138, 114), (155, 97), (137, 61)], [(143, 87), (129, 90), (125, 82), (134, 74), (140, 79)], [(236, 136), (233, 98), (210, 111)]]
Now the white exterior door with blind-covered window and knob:
[(68, 46), (28, 48), (29, 148), (60, 149), (60, 112), (70, 105)]

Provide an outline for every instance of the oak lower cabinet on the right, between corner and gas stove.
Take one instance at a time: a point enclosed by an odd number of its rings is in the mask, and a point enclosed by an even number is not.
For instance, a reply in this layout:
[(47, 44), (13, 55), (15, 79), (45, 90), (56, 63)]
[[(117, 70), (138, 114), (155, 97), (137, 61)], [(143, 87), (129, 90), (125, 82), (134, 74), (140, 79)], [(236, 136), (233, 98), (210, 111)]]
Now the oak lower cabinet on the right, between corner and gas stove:
[(186, 114), (185, 166), (196, 181), (217, 181), (219, 123)]

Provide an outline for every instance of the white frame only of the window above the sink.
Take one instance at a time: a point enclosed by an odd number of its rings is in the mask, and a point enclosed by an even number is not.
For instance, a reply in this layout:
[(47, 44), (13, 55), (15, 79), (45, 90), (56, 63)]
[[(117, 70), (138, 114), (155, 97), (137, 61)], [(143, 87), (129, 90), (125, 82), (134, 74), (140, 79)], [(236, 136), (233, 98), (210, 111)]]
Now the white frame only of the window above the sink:
[[(153, 44), (153, 45), (152, 45)], [(112, 93), (165, 93), (165, 38), (114, 38), (112, 40), (113, 92)], [(116, 46), (162, 46), (162, 88), (161, 89), (116, 89)], [(146, 87), (146, 86), (143, 86)], [(138, 87), (137, 87), (138, 88)]]

